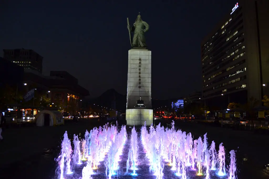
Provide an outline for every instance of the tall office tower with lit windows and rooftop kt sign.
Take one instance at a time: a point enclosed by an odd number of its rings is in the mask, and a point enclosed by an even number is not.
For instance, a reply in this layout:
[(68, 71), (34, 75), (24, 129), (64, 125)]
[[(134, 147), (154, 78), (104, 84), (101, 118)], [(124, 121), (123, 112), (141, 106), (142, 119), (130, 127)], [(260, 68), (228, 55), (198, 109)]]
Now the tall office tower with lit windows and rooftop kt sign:
[(225, 108), (231, 102), (244, 104), (251, 97), (261, 101), (268, 94), (268, 17), (268, 0), (235, 2), (204, 38), (202, 96), (206, 105)]

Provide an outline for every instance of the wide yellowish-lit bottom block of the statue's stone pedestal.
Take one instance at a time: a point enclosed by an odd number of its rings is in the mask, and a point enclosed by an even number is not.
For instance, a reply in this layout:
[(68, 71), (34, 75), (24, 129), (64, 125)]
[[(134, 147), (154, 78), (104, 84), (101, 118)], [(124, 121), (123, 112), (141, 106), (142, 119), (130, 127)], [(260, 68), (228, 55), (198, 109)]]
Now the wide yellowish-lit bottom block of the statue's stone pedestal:
[(127, 126), (143, 126), (145, 121), (147, 126), (153, 123), (152, 109), (126, 109)]

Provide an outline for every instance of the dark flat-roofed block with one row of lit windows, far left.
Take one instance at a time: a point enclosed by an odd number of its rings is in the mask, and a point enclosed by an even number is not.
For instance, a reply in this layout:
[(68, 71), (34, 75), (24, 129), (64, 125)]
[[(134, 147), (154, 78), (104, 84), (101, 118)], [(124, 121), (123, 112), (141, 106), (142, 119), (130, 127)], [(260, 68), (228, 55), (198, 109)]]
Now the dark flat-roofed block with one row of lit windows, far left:
[(4, 58), (22, 66), (24, 69), (32, 69), (42, 73), (43, 57), (34, 50), (28, 49), (3, 49)]

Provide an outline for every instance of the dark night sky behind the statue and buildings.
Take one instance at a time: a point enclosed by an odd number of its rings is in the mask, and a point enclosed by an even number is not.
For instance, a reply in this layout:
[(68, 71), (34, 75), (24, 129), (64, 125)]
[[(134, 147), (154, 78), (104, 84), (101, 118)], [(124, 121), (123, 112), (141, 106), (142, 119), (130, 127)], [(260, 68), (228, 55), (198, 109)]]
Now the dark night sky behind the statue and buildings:
[(179, 97), (201, 89), (201, 40), (235, 3), (4, 0), (0, 49), (33, 49), (44, 57), (43, 74), (68, 71), (92, 97), (110, 88), (126, 94), (126, 17), (133, 24), (141, 12), (150, 25), (146, 40), (152, 51), (152, 98)]

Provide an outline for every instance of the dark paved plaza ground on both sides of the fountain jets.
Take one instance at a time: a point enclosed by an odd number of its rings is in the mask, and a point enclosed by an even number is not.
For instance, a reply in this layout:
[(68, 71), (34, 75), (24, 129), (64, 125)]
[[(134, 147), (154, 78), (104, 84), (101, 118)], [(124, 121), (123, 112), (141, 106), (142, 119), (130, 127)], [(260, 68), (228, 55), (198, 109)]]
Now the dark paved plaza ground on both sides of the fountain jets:
[[(0, 143), (0, 178), (52, 178), (55, 170), (54, 158), (59, 153), (58, 146), (64, 132), (68, 131), (70, 138), (73, 138), (73, 134), (81, 133), (81, 136), (84, 136), (86, 129), (91, 130), (104, 123), (88, 120), (70, 122), (58, 127), (10, 127), (3, 131), (4, 141)], [(166, 123), (163, 125), (167, 126)], [(207, 132), (208, 142), (214, 140), (216, 146), (223, 142), (226, 152), (237, 150), (237, 162), (241, 172), (239, 178), (269, 177), (262, 171), (263, 165), (269, 163), (269, 135), (182, 121), (176, 121), (175, 125), (183, 131), (191, 132), (194, 138)], [(243, 156), (247, 161), (243, 162)]]

